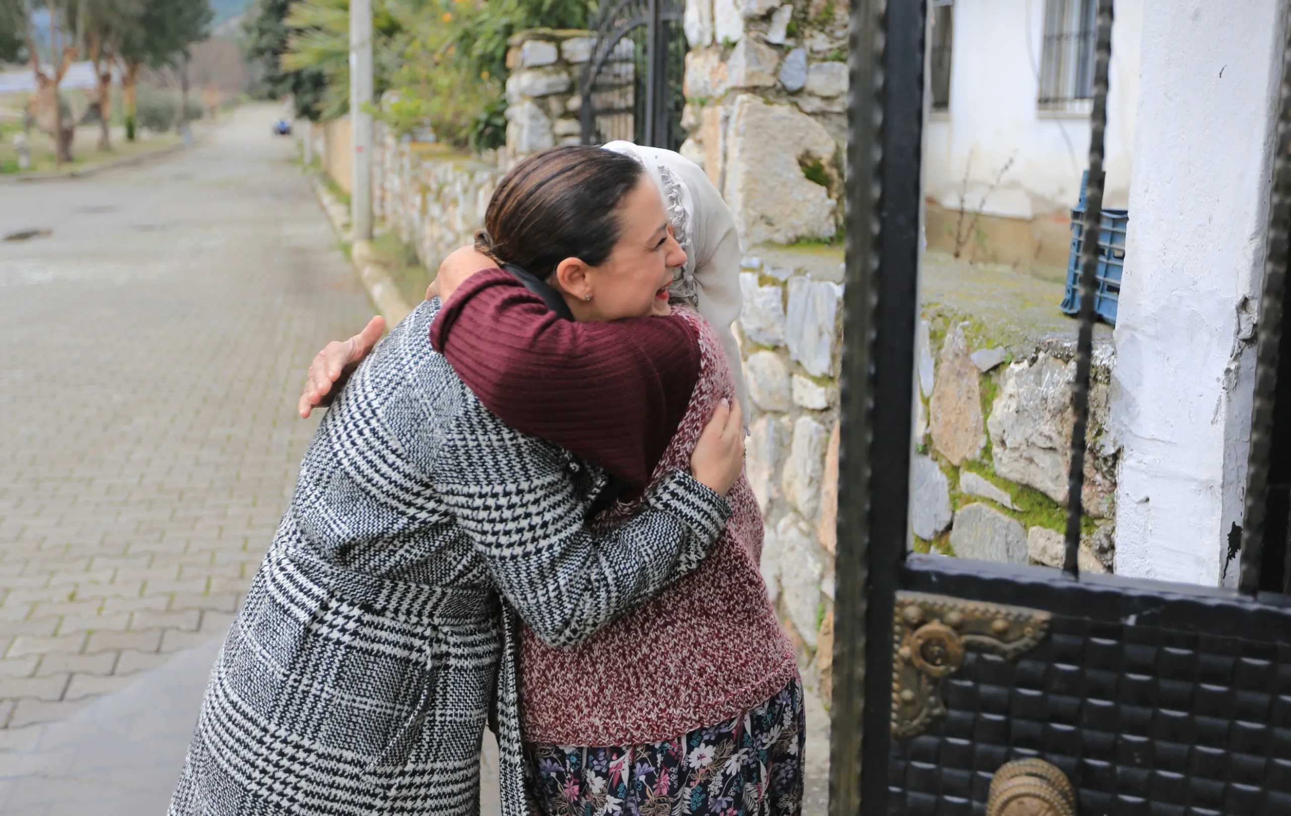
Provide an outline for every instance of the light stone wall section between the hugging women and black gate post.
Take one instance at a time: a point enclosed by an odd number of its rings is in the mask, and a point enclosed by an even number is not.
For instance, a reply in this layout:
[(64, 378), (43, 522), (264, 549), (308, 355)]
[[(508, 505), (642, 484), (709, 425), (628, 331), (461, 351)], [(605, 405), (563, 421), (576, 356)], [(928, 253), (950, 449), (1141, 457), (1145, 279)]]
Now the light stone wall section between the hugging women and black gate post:
[(826, 703), (834, 637), (838, 360), (843, 287), (745, 258), (736, 324), (751, 416), (746, 474), (762, 507), (762, 574)]

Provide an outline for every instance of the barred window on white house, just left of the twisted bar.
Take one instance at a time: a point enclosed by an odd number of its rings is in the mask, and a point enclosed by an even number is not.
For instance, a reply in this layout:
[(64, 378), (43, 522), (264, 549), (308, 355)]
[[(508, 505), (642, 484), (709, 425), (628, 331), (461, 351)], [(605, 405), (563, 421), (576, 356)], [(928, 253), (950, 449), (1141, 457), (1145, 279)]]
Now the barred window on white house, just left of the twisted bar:
[(1096, 18), (1096, 0), (1046, 0), (1042, 111), (1083, 113), (1092, 110)]

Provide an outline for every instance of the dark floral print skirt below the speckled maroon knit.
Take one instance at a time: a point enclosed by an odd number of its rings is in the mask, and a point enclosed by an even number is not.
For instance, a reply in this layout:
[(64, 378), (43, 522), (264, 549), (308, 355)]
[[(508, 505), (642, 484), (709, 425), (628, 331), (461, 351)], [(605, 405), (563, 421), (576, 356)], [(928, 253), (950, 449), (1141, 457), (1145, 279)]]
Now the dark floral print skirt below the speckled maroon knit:
[(613, 748), (524, 746), (544, 816), (799, 816), (802, 681), (750, 712), (673, 740)]

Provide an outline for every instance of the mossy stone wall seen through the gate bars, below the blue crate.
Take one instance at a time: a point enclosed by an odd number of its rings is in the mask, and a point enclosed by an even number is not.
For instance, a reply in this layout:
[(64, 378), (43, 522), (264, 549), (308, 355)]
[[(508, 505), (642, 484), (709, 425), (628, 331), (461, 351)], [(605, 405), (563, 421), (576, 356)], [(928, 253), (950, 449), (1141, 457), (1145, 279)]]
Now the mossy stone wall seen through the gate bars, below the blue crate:
[[(911, 545), (962, 558), (1061, 566), (1072, 445), (1070, 340), (1007, 348), (971, 316), (919, 324)], [(1095, 353), (1081, 568), (1114, 566), (1117, 443), (1110, 344)]]

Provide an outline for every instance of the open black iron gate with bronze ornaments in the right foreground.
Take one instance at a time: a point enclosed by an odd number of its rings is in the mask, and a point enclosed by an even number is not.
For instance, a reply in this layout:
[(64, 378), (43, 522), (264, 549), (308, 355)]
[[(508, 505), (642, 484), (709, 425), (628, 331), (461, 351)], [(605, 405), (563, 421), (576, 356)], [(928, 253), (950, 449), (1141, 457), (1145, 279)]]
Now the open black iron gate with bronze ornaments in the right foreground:
[[(1291, 48), (1241, 588), (1081, 575), (1092, 255), (1083, 259), (1065, 568), (906, 549), (923, 6), (852, 3), (830, 812), (1291, 813), (1291, 599), (1283, 594), (1291, 333), (1282, 331), (1291, 306)], [(1100, 0), (1087, 218), (1097, 217), (1103, 191), (1110, 30), (1112, 0)]]

